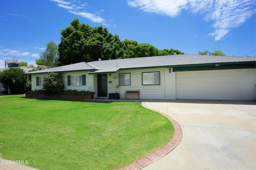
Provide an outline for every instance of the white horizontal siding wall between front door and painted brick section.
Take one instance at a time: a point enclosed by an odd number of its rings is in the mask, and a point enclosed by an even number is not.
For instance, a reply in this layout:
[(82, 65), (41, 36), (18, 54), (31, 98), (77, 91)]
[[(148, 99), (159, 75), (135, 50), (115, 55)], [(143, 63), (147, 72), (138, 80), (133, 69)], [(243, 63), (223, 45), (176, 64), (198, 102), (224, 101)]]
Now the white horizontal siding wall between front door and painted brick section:
[[(142, 72), (160, 72), (160, 85), (142, 85)], [(111, 76), (108, 74), (108, 93), (116, 92), (116, 85), (119, 85), (119, 73), (130, 73), (131, 76), (130, 86), (119, 86), (117, 92), (120, 93), (120, 98), (124, 98), (126, 90), (140, 90), (141, 99), (165, 99), (164, 68), (122, 70), (115, 74), (111, 74)], [(114, 76), (117, 76), (118, 78), (114, 79)], [(112, 81), (112, 83), (109, 83), (109, 81)], [(128, 96), (127, 98), (137, 97)]]

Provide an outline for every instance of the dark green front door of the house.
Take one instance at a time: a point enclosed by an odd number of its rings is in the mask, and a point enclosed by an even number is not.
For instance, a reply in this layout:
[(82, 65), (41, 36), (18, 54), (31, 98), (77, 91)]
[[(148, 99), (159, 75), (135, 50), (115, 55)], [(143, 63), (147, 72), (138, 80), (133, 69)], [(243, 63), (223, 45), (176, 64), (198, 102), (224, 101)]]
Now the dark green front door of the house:
[(108, 97), (107, 74), (98, 74), (98, 97)]

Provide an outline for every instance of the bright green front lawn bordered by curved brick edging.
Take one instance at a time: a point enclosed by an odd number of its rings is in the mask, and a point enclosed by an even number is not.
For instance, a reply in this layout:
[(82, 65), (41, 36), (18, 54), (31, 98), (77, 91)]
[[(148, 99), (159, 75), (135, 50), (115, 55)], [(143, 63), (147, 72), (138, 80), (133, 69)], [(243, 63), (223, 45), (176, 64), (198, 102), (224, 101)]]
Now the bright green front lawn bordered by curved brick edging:
[(40, 170), (112, 170), (166, 145), (172, 123), (140, 102), (0, 96), (0, 157)]

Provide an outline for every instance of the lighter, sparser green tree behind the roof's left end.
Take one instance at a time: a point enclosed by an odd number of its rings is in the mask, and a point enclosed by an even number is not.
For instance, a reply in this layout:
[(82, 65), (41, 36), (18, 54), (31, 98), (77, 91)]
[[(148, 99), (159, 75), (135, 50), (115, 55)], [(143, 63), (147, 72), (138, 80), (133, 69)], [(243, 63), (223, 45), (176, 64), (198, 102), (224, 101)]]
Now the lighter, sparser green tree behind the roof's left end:
[(37, 65), (56, 67), (58, 65), (59, 53), (58, 46), (54, 41), (46, 44), (46, 50), (41, 53), (40, 59), (36, 59)]

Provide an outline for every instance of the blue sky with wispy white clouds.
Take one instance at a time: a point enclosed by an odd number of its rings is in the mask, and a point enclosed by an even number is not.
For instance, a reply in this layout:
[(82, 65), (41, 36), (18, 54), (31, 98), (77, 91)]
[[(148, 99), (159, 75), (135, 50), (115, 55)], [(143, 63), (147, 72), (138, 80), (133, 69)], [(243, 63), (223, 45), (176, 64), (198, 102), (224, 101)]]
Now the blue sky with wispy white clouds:
[(255, 6), (255, 0), (0, 0), (0, 68), (13, 57), (35, 64), (75, 18), (121, 41), (255, 57)]

